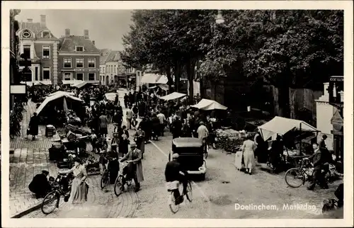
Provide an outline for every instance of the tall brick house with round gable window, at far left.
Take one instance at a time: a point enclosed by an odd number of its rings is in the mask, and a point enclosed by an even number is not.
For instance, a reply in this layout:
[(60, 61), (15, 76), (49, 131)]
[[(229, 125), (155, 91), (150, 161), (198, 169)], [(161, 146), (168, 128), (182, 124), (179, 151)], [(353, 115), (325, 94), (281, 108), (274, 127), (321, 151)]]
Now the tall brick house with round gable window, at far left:
[(26, 69), (23, 81), (28, 85), (57, 84), (59, 39), (47, 28), (46, 16), (41, 15), (39, 23), (33, 19), (21, 22), (18, 37), (19, 53), (25, 60), (20, 61), (20, 70)]

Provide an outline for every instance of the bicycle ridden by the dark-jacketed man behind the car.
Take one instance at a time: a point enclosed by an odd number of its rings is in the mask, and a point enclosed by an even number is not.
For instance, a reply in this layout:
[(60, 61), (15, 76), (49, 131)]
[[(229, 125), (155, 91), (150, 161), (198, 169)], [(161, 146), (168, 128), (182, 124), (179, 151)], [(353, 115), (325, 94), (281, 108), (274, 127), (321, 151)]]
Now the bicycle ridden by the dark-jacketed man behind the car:
[[(183, 184), (181, 184), (180, 181), (167, 182), (166, 188), (170, 192), (169, 207), (170, 207), (170, 210), (173, 214), (176, 214), (176, 212), (178, 212), (178, 210), (179, 210), (180, 203), (176, 204), (176, 201), (177, 202), (180, 201), (181, 198), (183, 199), (185, 196), (189, 202), (192, 202), (193, 191), (192, 191), (192, 185), (191, 185), (190, 181), (188, 181), (188, 183), (187, 183), (187, 189), (186, 189), (185, 193), (183, 193)], [(176, 199), (174, 197), (173, 190), (178, 190), (180, 193), (182, 192), (182, 195), (180, 195), (179, 198)]]

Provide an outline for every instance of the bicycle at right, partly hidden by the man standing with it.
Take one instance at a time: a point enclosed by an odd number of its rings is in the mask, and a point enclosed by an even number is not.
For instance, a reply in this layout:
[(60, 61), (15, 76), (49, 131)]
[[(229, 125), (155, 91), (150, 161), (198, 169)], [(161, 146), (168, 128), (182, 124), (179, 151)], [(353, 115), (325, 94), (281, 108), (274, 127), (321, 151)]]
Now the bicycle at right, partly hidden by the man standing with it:
[[(336, 166), (330, 164), (329, 172), (325, 176), (326, 182), (331, 183), (334, 176), (336, 176)], [(292, 183), (292, 178), (298, 181), (298, 183)], [(306, 181), (312, 181), (313, 179), (314, 168), (309, 159), (302, 159), (301, 165), (298, 168), (289, 169), (285, 173), (285, 182), (292, 188), (299, 188), (299, 186), (304, 185)]]

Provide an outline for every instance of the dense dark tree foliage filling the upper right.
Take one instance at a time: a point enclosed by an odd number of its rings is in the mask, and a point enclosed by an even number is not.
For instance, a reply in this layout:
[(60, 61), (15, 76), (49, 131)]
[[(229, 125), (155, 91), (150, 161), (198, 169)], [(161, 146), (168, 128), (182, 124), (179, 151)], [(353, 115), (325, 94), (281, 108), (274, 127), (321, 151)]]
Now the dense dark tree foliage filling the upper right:
[(309, 87), (343, 74), (343, 11), (139, 10), (132, 13), (122, 60), (151, 64), (193, 80), (195, 62), (212, 80), (219, 76), (263, 78), (280, 86)]

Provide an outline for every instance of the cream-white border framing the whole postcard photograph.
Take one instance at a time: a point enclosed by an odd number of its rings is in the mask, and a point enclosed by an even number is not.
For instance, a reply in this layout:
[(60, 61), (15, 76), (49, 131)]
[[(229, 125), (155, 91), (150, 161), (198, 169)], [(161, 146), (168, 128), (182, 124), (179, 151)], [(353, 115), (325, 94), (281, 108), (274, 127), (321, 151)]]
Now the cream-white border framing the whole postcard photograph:
[[(2, 218), (4, 227), (352, 227), (353, 226), (353, 1), (4, 1), (1, 2), (2, 36)], [(345, 199), (343, 220), (172, 220), (172, 219), (8, 219), (8, 18), (10, 8), (40, 9), (344, 9), (345, 27)], [(166, 209), (168, 210), (168, 209)]]

